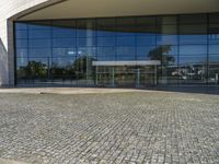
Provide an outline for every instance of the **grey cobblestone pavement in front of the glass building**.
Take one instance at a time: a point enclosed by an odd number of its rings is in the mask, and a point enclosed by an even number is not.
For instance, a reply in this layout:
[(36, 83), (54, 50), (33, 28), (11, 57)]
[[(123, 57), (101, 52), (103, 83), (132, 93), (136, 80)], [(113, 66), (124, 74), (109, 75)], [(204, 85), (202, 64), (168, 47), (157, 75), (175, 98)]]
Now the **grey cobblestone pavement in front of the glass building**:
[(0, 94), (0, 159), (218, 164), (219, 96)]

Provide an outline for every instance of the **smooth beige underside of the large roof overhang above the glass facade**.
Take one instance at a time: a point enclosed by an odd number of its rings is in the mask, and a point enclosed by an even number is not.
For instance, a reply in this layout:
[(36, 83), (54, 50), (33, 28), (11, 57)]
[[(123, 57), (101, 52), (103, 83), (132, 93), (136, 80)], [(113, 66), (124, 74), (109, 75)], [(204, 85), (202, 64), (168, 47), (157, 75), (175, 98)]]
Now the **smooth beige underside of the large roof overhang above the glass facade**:
[(56, 20), (219, 12), (219, 0), (64, 0), (18, 20)]

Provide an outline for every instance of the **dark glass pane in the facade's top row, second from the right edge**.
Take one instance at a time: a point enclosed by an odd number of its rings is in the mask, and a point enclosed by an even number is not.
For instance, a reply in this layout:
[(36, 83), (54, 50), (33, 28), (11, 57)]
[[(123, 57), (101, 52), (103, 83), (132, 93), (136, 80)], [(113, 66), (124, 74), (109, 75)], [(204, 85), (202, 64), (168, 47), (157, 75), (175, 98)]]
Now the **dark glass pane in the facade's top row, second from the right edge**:
[(180, 24), (201, 24), (201, 23), (207, 23), (207, 14), (180, 15)]

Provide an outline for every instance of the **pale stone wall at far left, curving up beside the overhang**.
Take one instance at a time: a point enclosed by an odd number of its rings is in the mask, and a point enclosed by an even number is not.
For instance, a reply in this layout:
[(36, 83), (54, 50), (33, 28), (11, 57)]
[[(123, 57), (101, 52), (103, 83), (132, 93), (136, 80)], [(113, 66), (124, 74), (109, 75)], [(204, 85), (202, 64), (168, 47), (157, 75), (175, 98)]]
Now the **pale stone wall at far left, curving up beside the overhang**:
[(0, 86), (14, 85), (13, 21), (61, 0), (0, 0)]

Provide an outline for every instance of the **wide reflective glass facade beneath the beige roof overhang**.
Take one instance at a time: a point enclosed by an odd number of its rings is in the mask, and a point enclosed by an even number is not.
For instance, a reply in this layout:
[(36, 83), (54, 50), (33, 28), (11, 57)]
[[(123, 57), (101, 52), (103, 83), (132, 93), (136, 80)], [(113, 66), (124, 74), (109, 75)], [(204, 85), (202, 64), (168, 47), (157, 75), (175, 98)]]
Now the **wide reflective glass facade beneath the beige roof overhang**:
[(15, 58), (19, 85), (218, 84), (219, 13), (16, 22)]

